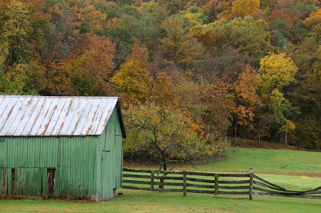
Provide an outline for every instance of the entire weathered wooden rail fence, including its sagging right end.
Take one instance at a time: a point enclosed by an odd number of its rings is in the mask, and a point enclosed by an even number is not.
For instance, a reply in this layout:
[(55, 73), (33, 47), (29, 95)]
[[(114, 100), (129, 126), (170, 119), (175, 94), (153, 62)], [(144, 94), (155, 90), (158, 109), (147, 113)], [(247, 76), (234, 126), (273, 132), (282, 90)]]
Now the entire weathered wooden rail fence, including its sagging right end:
[[(158, 187), (157, 187), (158, 186)], [(135, 170), (123, 168), (123, 189), (203, 194), (246, 194), (321, 199), (321, 187), (309, 191), (290, 191), (273, 185), (253, 174), (225, 174), (162, 170)]]

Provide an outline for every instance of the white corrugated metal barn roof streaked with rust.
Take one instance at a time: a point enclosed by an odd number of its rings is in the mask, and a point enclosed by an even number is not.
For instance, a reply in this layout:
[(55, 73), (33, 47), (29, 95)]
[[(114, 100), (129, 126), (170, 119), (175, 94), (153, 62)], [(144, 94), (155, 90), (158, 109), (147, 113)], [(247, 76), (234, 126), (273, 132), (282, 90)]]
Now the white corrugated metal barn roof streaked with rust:
[(113, 97), (0, 95), (0, 136), (101, 135), (116, 103)]

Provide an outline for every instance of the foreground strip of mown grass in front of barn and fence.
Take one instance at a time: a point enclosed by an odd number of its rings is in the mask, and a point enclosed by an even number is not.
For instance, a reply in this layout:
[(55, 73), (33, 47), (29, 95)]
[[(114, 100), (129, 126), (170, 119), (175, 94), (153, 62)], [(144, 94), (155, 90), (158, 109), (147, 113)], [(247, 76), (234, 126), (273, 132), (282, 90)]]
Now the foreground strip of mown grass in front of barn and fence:
[[(320, 212), (316, 199), (255, 196), (220, 199), (210, 194), (146, 192), (120, 189), (123, 196), (109, 202), (86, 203), (58, 200), (9, 200), (0, 202), (0, 212)], [(234, 196), (235, 197), (235, 196)]]

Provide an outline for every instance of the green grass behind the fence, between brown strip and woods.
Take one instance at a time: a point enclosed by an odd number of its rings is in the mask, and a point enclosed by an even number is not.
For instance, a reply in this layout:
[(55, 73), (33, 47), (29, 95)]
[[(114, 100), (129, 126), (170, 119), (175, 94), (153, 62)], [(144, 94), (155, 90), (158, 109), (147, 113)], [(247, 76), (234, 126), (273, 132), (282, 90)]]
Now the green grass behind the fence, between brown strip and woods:
[[(173, 170), (200, 172), (248, 172), (254, 168), (255, 174), (283, 173), (285, 175), (317, 175), (321, 177), (321, 152), (305, 152), (295, 150), (265, 150), (248, 148), (231, 148), (228, 154), (218, 162), (198, 165), (195, 170), (190, 165), (169, 165)], [(146, 166), (128, 164), (124, 167), (158, 170), (158, 165)]]

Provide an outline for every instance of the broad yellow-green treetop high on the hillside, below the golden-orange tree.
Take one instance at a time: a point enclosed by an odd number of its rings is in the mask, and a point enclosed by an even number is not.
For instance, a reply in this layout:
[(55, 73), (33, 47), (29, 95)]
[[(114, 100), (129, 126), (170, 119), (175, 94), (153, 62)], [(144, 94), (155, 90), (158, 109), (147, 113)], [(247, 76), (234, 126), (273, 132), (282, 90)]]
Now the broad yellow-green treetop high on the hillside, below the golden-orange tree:
[(232, 46), (251, 58), (252, 63), (258, 67), (260, 58), (273, 51), (268, 41), (270, 35), (267, 28), (268, 24), (263, 19), (255, 21), (252, 17), (245, 16), (244, 19), (220, 19), (208, 25), (194, 26), (190, 28), (190, 33), (213, 54), (222, 53)]

